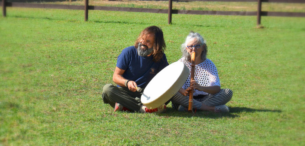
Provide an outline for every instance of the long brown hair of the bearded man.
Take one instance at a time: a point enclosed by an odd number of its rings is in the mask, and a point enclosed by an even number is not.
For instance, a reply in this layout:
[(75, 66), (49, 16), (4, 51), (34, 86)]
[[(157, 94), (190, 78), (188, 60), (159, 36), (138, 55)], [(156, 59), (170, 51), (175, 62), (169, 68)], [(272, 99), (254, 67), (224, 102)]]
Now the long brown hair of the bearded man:
[(154, 62), (159, 62), (164, 54), (166, 44), (163, 38), (163, 31), (157, 26), (146, 27), (139, 35), (138, 39), (135, 41), (135, 48), (138, 48), (138, 44), (142, 38), (145, 38), (147, 34), (153, 33), (155, 36), (155, 41), (153, 43), (152, 55)]

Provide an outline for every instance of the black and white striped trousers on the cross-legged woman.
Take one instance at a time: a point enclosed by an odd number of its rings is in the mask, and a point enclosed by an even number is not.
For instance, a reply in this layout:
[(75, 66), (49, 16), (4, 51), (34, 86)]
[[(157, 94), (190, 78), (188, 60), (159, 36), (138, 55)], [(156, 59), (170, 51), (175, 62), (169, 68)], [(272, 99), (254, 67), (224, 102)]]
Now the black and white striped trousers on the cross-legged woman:
[[(220, 92), (216, 94), (199, 95), (197, 99), (193, 99), (193, 108), (200, 109), (202, 104), (207, 106), (219, 106), (228, 103), (232, 98), (233, 92), (230, 89), (221, 89)], [(189, 96), (184, 96), (177, 92), (172, 98), (172, 107), (177, 109), (179, 105), (188, 107)]]

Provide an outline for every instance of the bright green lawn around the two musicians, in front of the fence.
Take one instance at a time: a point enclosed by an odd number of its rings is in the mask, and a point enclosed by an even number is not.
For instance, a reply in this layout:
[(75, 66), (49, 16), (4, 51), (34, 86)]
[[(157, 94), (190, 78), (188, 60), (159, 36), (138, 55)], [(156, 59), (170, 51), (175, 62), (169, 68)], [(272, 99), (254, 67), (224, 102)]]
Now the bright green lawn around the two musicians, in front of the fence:
[[(0, 13), (2, 16), (2, 13)], [(305, 145), (305, 18), (7, 8), (0, 17), (0, 145)], [(201, 33), (230, 113), (113, 112), (101, 88), (147, 26), (169, 63)]]

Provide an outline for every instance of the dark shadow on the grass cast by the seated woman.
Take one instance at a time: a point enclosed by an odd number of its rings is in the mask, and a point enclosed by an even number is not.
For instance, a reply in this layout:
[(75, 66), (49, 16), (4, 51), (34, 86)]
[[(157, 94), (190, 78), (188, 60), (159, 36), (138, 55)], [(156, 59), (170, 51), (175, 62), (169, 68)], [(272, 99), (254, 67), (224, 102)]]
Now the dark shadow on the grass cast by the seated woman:
[[(166, 113), (163, 113), (164, 116), (177, 116), (177, 117), (202, 117), (202, 118), (222, 118), (222, 117), (231, 117), (236, 118), (239, 117), (237, 113), (254, 113), (254, 112), (276, 112), (280, 113), (281, 110), (270, 110), (270, 109), (252, 109), (247, 107), (230, 107), (229, 113), (215, 113), (215, 112), (209, 112), (209, 111), (196, 111), (195, 113), (189, 113), (189, 112), (178, 112), (175, 109), (168, 108)], [(161, 115), (161, 114), (160, 114)]]

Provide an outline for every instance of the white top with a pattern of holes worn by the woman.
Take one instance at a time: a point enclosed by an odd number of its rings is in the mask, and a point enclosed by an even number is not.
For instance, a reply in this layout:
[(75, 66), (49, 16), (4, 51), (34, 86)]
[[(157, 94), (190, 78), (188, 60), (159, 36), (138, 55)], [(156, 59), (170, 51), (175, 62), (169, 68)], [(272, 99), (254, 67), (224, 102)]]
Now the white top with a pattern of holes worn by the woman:
[[(190, 86), (191, 81), (191, 63), (186, 61), (185, 58), (180, 58), (178, 61), (182, 61), (190, 70), (190, 74), (188, 75), (188, 79), (182, 86), (183, 89), (187, 89)], [(194, 80), (200, 86), (220, 86), (220, 80), (218, 77), (218, 72), (215, 64), (210, 60), (206, 59), (205, 61), (201, 62), (200, 64), (195, 65), (195, 76)], [(193, 96), (198, 95), (207, 95), (209, 93), (199, 91), (194, 89)]]

